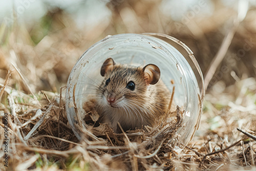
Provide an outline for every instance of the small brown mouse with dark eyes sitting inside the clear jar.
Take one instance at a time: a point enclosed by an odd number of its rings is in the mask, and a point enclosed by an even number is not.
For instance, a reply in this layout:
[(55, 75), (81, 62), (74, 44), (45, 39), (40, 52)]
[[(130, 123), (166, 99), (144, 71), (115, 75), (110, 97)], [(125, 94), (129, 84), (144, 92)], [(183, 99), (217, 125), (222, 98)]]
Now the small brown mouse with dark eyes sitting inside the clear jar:
[(166, 115), (170, 93), (156, 65), (135, 67), (108, 58), (100, 75), (104, 79), (91, 98), (92, 108), (99, 115), (98, 122), (108, 124), (115, 133), (122, 133), (118, 122), (123, 131), (142, 129)]

